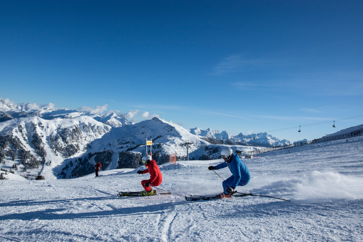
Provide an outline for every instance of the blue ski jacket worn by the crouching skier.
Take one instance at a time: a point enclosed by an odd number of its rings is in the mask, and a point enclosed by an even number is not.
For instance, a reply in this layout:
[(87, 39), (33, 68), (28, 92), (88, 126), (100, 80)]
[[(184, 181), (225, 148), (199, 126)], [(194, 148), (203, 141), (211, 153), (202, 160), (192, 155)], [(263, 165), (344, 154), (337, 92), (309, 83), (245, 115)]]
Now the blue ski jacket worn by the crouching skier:
[(248, 168), (246, 165), (241, 161), (240, 157), (233, 153), (233, 157), (230, 163), (227, 163), (227, 161), (224, 161), (223, 163), (216, 165), (216, 170), (222, 169), (227, 167), (232, 172), (232, 175), (234, 176), (234, 180), (231, 184), (234, 188), (236, 188), (238, 185), (246, 184), (251, 179), (250, 173), (248, 171)]

